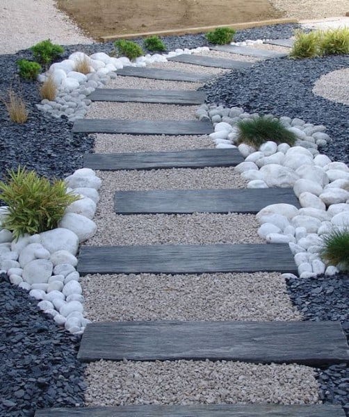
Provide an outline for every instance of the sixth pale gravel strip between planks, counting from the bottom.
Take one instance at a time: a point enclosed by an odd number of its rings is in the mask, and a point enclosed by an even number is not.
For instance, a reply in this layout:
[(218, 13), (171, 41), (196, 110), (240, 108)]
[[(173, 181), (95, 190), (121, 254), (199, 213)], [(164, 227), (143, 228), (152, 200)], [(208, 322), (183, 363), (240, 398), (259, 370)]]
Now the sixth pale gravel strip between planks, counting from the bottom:
[(97, 101), (91, 104), (86, 118), (119, 120), (195, 120), (197, 106), (172, 104), (116, 103)]

